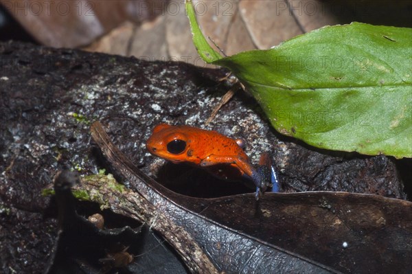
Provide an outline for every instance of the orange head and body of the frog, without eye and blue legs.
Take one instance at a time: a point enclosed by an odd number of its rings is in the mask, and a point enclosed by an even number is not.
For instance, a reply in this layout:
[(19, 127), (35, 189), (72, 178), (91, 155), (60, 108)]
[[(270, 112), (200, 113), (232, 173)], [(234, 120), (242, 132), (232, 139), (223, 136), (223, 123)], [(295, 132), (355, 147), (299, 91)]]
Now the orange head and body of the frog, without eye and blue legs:
[[(172, 154), (167, 146), (177, 139), (185, 141), (186, 146), (183, 152)], [(192, 163), (221, 179), (237, 181), (244, 179), (244, 175), (250, 179), (255, 173), (249, 157), (236, 140), (214, 130), (159, 124), (153, 129), (146, 148), (152, 155), (173, 163)]]

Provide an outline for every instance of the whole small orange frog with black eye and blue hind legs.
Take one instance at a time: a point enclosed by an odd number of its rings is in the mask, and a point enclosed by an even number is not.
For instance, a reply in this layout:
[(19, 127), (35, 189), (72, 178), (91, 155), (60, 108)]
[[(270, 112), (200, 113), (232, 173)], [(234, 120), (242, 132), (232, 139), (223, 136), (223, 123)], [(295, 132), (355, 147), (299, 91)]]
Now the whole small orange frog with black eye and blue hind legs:
[(214, 130), (168, 124), (156, 126), (146, 142), (152, 155), (173, 163), (192, 163), (220, 179), (252, 182), (257, 200), (268, 187), (277, 192), (277, 176), (268, 155), (262, 155), (258, 168), (254, 168), (243, 146), (244, 141)]

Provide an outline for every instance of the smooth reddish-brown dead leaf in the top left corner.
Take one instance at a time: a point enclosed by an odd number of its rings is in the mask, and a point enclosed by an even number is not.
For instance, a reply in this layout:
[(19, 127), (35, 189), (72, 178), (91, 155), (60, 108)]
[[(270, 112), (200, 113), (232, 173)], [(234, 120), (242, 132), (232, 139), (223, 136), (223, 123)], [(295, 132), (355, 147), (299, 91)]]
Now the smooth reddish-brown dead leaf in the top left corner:
[(87, 45), (128, 18), (145, 21), (160, 12), (149, 0), (0, 0), (0, 3), (39, 43), (52, 47)]

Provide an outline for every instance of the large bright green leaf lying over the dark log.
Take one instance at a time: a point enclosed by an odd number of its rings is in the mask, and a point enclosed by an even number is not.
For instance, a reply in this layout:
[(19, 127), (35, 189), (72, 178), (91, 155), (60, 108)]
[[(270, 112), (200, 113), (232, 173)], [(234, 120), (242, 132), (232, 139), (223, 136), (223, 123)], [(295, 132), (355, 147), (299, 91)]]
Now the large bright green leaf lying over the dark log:
[(410, 28), (323, 27), (211, 63), (231, 69), (284, 135), (318, 148), (412, 157)]

